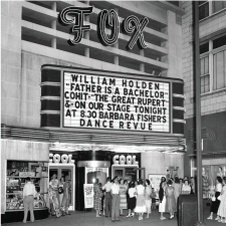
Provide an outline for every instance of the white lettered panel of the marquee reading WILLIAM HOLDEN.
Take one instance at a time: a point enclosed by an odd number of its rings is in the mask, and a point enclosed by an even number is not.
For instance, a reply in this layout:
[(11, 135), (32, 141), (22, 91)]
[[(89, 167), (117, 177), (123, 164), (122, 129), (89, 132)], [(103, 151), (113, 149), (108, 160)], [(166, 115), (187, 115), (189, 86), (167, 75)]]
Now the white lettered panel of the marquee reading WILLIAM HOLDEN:
[(169, 132), (169, 83), (63, 72), (63, 126)]

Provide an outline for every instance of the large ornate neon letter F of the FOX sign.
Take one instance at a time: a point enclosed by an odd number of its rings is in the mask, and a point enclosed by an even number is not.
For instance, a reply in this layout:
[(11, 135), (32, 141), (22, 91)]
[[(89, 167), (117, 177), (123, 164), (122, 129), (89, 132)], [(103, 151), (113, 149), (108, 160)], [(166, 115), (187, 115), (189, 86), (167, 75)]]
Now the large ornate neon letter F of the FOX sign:
[(84, 25), (84, 15), (90, 14), (93, 7), (75, 7), (69, 6), (63, 9), (59, 14), (59, 22), (63, 25), (73, 25), (71, 31), (75, 33), (74, 39), (70, 39), (69, 44), (78, 44), (82, 40), (84, 31), (90, 30), (90, 25)]

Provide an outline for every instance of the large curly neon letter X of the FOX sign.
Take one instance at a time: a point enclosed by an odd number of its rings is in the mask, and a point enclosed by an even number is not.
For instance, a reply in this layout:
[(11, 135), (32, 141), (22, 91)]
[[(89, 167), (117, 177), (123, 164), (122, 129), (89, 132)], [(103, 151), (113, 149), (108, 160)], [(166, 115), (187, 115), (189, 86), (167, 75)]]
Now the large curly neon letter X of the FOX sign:
[(131, 50), (137, 41), (140, 48), (142, 49), (147, 48), (148, 45), (145, 43), (143, 31), (148, 23), (149, 23), (149, 20), (147, 17), (144, 17), (144, 19), (139, 21), (139, 19), (133, 15), (128, 16), (124, 20), (124, 30), (127, 33), (132, 33), (135, 31), (127, 46), (128, 49)]

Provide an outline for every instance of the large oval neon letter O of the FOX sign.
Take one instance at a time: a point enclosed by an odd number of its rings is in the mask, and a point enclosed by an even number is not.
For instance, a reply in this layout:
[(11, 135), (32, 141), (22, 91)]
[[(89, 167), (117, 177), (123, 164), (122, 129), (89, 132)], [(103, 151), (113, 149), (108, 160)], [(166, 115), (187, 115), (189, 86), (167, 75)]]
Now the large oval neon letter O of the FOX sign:
[[(98, 18), (98, 37), (101, 43), (105, 46), (113, 45), (119, 37), (119, 20), (115, 10), (103, 9)], [(111, 35), (106, 34), (106, 28), (112, 30)]]

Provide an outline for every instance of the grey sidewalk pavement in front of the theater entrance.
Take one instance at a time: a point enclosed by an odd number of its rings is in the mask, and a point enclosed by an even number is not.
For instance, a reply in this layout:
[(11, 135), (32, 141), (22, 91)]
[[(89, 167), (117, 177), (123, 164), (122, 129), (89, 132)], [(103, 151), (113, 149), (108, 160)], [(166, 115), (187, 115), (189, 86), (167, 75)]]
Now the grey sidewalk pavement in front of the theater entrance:
[[(204, 203), (204, 222), (206, 226), (223, 226), (226, 224), (219, 223), (215, 220), (207, 220), (209, 216), (210, 206)], [(172, 220), (168, 220), (169, 214), (165, 213), (164, 216), (167, 218), (166, 220), (160, 220), (160, 216), (158, 211), (152, 211), (149, 219), (138, 220), (138, 216), (125, 218), (125, 216), (120, 216), (120, 221), (112, 222), (109, 217), (101, 216), (96, 217), (94, 211), (72, 211), (71, 215), (62, 216), (62, 217), (54, 217), (49, 216), (47, 219), (37, 220), (34, 223), (27, 222), (24, 224), (23, 222), (18, 223), (7, 223), (3, 224), (9, 226), (193, 226), (195, 224), (189, 225), (188, 221), (183, 221), (181, 225), (179, 225), (177, 218)], [(124, 212), (126, 214), (126, 212)], [(216, 217), (216, 216), (214, 216)], [(181, 221), (180, 221), (181, 222)], [(199, 224), (200, 225), (200, 224)], [(203, 226), (203, 225), (202, 225)]]

